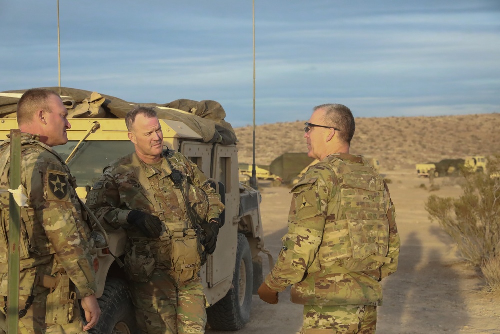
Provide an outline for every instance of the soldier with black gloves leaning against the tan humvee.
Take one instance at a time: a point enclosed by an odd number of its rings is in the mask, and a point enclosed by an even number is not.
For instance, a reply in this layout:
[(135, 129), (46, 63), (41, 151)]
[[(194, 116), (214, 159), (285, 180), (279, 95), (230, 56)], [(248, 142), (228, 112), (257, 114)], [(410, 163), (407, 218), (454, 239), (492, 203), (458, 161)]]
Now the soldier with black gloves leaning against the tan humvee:
[(137, 106), (125, 120), (135, 152), (104, 168), (87, 204), (107, 228), (127, 230), (125, 271), (141, 331), (203, 333), (203, 247), (215, 250), (224, 206), (194, 163), (163, 151), (153, 108)]

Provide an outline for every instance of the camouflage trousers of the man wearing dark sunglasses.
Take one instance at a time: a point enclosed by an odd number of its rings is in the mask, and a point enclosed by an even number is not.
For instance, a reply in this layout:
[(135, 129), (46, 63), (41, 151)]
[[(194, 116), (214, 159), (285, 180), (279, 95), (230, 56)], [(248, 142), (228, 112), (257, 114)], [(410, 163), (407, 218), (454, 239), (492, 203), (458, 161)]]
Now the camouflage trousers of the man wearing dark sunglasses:
[(372, 334), (376, 329), (376, 306), (304, 305), (300, 334)]

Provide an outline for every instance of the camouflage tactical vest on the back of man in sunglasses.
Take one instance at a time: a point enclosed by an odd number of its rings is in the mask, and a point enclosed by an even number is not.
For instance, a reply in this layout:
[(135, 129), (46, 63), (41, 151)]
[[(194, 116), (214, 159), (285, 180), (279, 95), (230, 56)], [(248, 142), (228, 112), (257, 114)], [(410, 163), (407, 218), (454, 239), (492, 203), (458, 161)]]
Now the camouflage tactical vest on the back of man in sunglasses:
[(327, 220), (318, 259), (332, 273), (369, 272), (384, 263), (389, 247), (390, 199), (380, 177), (368, 163), (345, 162), (331, 156), (327, 162), (337, 176), (338, 215)]

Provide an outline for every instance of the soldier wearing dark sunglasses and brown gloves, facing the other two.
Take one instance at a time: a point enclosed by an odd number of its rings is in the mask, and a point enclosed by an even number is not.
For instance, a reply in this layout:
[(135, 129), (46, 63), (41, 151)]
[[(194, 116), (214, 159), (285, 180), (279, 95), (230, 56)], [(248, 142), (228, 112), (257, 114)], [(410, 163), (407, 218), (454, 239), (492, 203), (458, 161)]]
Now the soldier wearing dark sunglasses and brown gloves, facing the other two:
[(292, 188), (288, 233), (258, 293), (268, 303), (291, 285), (304, 305), (301, 333), (374, 333), (380, 280), (397, 269), (400, 240), (387, 184), (349, 154), (349, 108), (314, 108), (305, 123), (308, 156), (320, 160)]

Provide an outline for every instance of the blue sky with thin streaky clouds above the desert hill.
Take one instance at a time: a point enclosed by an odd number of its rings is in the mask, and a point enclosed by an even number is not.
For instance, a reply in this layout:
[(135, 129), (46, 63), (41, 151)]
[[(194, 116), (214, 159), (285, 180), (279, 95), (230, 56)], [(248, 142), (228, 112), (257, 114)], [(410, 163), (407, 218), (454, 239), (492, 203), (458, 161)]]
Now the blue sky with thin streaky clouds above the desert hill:
[[(252, 123), (251, 0), (60, 0), (61, 85)], [(0, 91), (57, 86), (56, 0), (0, 0)], [(499, 0), (256, 0), (256, 123), (500, 112)]]

